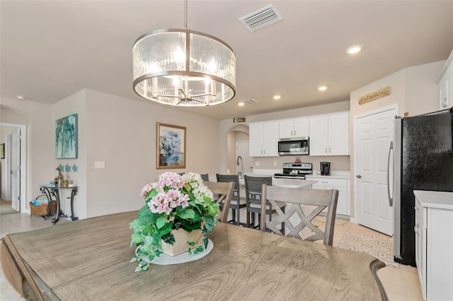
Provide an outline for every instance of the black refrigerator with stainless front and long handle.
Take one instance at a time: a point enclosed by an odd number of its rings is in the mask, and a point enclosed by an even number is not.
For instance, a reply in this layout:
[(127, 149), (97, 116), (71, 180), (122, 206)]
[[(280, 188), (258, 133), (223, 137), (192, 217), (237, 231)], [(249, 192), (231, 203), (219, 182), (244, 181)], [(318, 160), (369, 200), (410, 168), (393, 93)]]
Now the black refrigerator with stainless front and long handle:
[(413, 191), (453, 191), (453, 108), (396, 117), (393, 147), (394, 261), (415, 266)]

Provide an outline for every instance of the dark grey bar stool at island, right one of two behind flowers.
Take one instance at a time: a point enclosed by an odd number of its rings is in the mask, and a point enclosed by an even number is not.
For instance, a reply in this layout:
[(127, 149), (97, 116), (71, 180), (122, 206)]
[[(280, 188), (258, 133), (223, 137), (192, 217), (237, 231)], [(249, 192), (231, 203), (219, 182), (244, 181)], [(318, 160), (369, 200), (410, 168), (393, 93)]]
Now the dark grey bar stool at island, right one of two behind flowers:
[[(261, 216), (261, 189), (263, 184), (272, 185), (272, 177), (244, 176), (246, 184), (246, 208), (247, 208), (247, 227), (255, 228), (255, 216), (258, 214), (258, 228)], [(285, 206), (285, 203), (278, 203), (278, 206)], [(266, 204), (266, 215), (272, 220), (275, 208)]]

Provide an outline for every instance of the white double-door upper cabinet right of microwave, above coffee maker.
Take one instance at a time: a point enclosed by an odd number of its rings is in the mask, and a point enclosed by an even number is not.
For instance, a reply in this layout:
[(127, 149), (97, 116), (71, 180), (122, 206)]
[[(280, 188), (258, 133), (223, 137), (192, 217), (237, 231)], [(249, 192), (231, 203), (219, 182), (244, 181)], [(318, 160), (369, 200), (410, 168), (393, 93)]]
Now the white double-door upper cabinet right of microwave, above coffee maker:
[(349, 155), (349, 112), (310, 117), (310, 155)]

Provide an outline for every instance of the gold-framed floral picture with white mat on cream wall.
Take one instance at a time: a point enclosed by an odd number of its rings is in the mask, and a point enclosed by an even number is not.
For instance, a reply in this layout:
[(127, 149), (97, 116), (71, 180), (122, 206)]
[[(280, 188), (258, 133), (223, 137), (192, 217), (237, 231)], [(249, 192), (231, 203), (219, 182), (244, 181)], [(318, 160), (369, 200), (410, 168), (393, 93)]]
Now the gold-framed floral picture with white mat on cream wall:
[(157, 122), (156, 168), (185, 168), (185, 126)]

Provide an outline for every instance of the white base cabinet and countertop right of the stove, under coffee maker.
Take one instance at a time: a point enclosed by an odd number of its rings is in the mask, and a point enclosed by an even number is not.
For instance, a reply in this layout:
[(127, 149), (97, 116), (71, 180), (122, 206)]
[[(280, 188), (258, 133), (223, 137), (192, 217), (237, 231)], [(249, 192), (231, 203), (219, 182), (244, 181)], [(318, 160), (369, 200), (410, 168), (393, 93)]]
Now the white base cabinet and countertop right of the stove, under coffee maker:
[(337, 215), (350, 216), (350, 200), (349, 192), (350, 185), (349, 179), (335, 178), (332, 176), (325, 177), (310, 177), (305, 176), (305, 179), (312, 181), (318, 181), (313, 184), (313, 189), (337, 189), (338, 190), (338, 202), (337, 202)]

